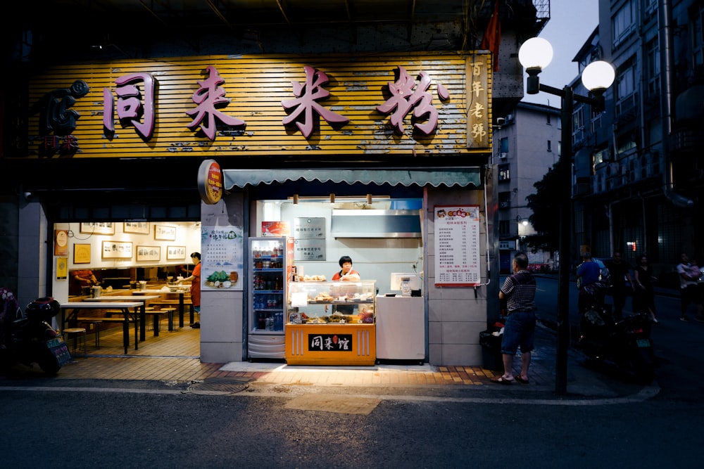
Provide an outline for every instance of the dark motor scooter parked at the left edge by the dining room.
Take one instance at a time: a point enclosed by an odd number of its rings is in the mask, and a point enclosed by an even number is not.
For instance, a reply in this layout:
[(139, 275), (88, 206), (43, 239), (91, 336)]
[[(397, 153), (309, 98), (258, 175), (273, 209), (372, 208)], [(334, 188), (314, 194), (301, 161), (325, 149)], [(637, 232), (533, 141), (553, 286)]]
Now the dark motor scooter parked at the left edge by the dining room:
[(49, 321), (61, 311), (52, 297), (37, 298), (22, 314), (13, 293), (0, 288), (0, 368), (6, 372), (15, 364), (38, 364), (54, 376), (71, 360), (61, 333)]

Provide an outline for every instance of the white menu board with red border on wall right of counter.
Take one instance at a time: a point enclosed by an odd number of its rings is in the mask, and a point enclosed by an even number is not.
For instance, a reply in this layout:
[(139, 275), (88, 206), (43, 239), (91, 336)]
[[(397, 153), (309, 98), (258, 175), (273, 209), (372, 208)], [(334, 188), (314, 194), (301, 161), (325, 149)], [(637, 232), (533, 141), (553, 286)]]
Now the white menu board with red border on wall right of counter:
[(479, 285), (479, 205), (436, 205), (435, 286)]

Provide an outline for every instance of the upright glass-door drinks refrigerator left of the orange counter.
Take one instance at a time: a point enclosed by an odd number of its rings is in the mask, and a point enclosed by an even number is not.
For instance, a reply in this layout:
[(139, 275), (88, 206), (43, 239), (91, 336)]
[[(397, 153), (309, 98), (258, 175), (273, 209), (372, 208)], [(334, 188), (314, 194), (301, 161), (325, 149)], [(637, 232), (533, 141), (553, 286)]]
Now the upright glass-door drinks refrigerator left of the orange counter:
[(283, 359), (286, 238), (249, 238), (248, 359)]

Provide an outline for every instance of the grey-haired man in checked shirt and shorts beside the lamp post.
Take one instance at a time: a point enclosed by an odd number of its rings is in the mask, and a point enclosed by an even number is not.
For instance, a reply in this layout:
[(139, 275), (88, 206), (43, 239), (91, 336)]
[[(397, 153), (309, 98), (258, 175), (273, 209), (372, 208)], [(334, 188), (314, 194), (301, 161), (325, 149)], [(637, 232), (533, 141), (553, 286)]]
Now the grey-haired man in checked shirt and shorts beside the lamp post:
[[(535, 290), (534, 276), (528, 269), (528, 256), (517, 252), (513, 257), (513, 275), (508, 276), (498, 293), (506, 301), (508, 315), (501, 338), (503, 375), (492, 378), (493, 383), (510, 385), (514, 381), (529, 383), (528, 368), (535, 341)], [(521, 349), (521, 371), (513, 375), (513, 357)]]

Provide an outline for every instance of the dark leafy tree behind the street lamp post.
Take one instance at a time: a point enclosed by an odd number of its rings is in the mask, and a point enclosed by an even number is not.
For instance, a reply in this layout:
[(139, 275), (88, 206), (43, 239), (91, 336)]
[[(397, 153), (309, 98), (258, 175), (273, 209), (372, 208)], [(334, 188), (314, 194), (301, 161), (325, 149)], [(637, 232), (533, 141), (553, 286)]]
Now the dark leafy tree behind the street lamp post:
[(532, 211), (528, 217), (537, 234), (526, 236), (525, 243), (532, 251), (543, 250), (555, 252), (560, 246), (560, 202), (564, 195), (560, 194), (560, 178), (565, 176), (562, 158), (543, 176), (543, 179), (533, 184), (536, 193), (528, 195), (527, 205)]

